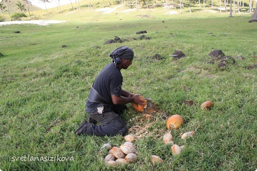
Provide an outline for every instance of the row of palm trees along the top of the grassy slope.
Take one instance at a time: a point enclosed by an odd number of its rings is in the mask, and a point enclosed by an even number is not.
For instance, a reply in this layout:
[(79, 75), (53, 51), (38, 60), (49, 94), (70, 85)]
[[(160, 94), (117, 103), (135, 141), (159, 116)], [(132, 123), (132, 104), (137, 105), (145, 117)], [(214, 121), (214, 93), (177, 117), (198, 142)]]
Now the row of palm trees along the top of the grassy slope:
[[(16, 5), (16, 11), (19, 13), (16, 13), (16, 15), (18, 15), (18, 18), (21, 17), (27, 17), (24, 12), (29, 13), (29, 16), (31, 19), (34, 18), (34, 14), (33, 14), (33, 10), (32, 10), (32, 3), (30, 0), (22, 0), (23, 2), (25, 2), (25, 5), (21, 3), (21, 1), (17, 1), (15, 3)], [(47, 11), (47, 7), (46, 7), (46, 3), (49, 3), (50, 0), (41, 0), (44, 3), (45, 6), (45, 10), (46, 10), (46, 15), (48, 16), (48, 11)], [(56, 7), (58, 10), (58, 13), (62, 13), (62, 9), (61, 9), (61, 5), (60, 5), (60, 0), (55, 0), (56, 1)], [(88, 9), (90, 9), (91, 7), (93, 7), (93, 9), (95, 9), (95, 5), (94, 5), (94, 0), (92, 0), (92, 4), (91, 4), (91, 0), (86, 0), (87, 1), (87, 7)], [(75, 10), (75, 9), (82, 9), (82, 6), (80, 5), (79, 0), (75, 0), (75, 4), (76, 4), (76, 8), (73, 6), (72, 4), (72, 0), (70, 0), (71, 2), (71, 9)], [(78, 3), (77, 3), (78, 2)], [(136, 7), (137, 10), (137, 6), (141, 5), (141, 6), (146, 6), (146, 8), (149, 7), (154, 7), (154, 6), (158, 6), (157, 0), (127, 0), (127, 2), (125, 0), (116, 0), (117, 3), (121, 3), (122, 8), (124, 5), (126, 6), (130, 6), (130, 8), (132, 7)], [(182, 8), (184, 8), (184, 6), (189, 7), (189, 11), (192, 12), (191, 10), (191, 3), (194, 4), (199, 4), (199, 8), (201, 9), (203, 7), (203, 12), (205, 12), (205, 7), (208, 5), (208, 7), (212, 7), (213, 8), (213, 0), (163, 0), (163, 2), (161, 3), (161, 6), (163, 6), (166, 10), (168, 10), (168, 8), (177, 8), (177, 6), (180, 8), (180, 13), (182, 13)], [(219, 0), (219, 12), (221, 13), (221, 5), (224, 6), (225, 11), (227, 12), (227, 5), (228, 3), (230, 3), (230, 14), (229, 17), (232, 17), (232, 6), (233, 6), (233, 13), (236, 13), (235, 10), (235, 6), (237, 6), (237, 10), (238, 12), (240, 12), (241, 7), (244, 8), (244, 4), (245, 1), (244, 0), (237, 0), (237, 4), (235, 5), (235, 0)], [(2, 2), (0, 2), (0, 12), (2, 14), (3, 17), (3, 21), (6, 20), (3, 11), (6, 10), (8, 11), (10, 20), (12, 21), (13, 18), (15, 17), (11, 17), (10, 15), (10, 11), (9, 11), (9, 7), (8, 4), (11, 4), (10, 0), (2, 0)], [(105, 0), (103, 0), (103, 7), (106, 7), (109, 4), (109, 6), (111, 6), (111, 2), (110, 0), (108, 0), (108, 2), (106, 3)], [(160, 4), (159, 4), (160, 5)], [(79, 6), (79, 7), (78, 7)], [(254, 11), (254, 0), (249, 0), (249, 9), (248, 12), (253, 12)]]

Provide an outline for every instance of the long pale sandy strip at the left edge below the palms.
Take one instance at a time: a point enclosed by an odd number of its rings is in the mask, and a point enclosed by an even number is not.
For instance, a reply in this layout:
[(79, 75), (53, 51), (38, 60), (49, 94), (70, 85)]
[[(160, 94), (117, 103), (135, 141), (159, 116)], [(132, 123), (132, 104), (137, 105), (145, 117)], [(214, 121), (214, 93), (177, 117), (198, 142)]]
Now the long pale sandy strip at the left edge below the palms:
[(6, 21), (0, 22), (0, 26), (10, 25), (10, 24), (37, 24), (41, 26), (48, 26), (49, 24), (59, 24), (65, 23), (66, 21), (58, 21), (58, 20), (29, 20), (29, 21)]

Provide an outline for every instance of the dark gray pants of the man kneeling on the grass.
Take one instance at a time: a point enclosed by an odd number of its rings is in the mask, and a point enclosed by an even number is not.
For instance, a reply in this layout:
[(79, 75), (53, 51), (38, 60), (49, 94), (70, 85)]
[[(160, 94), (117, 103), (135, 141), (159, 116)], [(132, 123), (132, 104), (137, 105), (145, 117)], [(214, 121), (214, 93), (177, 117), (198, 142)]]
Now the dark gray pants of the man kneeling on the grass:
[(97, 126), (92, 123), (87, 123), (85, 134), (95, 136), (124, 136), (128, 128), (118, 114), (121, 114), (126, 109), (126, 105), (115, 105), (112, 111), (106, 113), (99, 114), (97, 111), (88, 113), (91, 119), (99, 122), (101, 125)]

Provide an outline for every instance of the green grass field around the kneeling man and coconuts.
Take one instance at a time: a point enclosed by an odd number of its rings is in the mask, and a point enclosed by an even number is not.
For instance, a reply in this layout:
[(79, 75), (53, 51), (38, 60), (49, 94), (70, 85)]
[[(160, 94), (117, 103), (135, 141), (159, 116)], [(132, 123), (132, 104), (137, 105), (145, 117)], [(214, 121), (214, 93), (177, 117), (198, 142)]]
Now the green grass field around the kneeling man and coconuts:
[[(165, 15), (162, 8), (119, 10), (103, 14), (85, 9), (49, 18), (68, 21), (64, 24), (0, 26), (0, 169), (255, 171), (257, 69), (246, 69), (257, 64), (257, 25), (248, 23), (251, 14), (229, 18), (228, 13), (197, 10), (176, 15)], [(150, 40), (134, 39), (142, 30)], [(114, 36), (129, 42), (104, 45)], [(94, 78), (111, 62), (109, 53), (123, 45), (136, 56), (122, 70), (123, 88), (151, 98), (161, 112), (147, 119), (128, 104), (122, 118), (136, 137), (138, 161), (112, 168), (103, 161), (106, 150), (94, 152), (107, 142), (121, 145), (123, 137), (78, 137), (73, 132), (87, 118), (85, 102)], [(218, 61), (207, 64), (214, 49), (233, 57), (235, 64), (225, 69), (217, 67)], [(186, 57), (172, 58), (175, 50)], [(153, 59), (156, 53), (162, 59)], [(214, 107), (203, 111), (200, 104), (205, 101), (213, 101)], [(184, 119), (182, 127), (171, 132), (175, 143), (186, 145), (177, 157), (171, 145), (163, 143), (167, 116), (173, 114)], [(193, 138), (179, 136), (195, 130)], [(69, 158), (24, 161), (28, 155)], [(160, 156), (163, 163), (153, 165), (150, 155)]]

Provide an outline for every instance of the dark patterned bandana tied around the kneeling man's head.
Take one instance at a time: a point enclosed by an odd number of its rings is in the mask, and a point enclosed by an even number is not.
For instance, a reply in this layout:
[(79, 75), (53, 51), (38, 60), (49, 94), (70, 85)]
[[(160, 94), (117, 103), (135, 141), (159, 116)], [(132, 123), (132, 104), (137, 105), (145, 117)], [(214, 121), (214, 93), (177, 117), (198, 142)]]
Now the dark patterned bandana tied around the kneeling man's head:
[(121, 59), (132, 60), (134, 58), (134, 52), (128, 46), (121, 46), (110, 53), (110, 57), (113, 59), (115, 68), (121, 63)]

